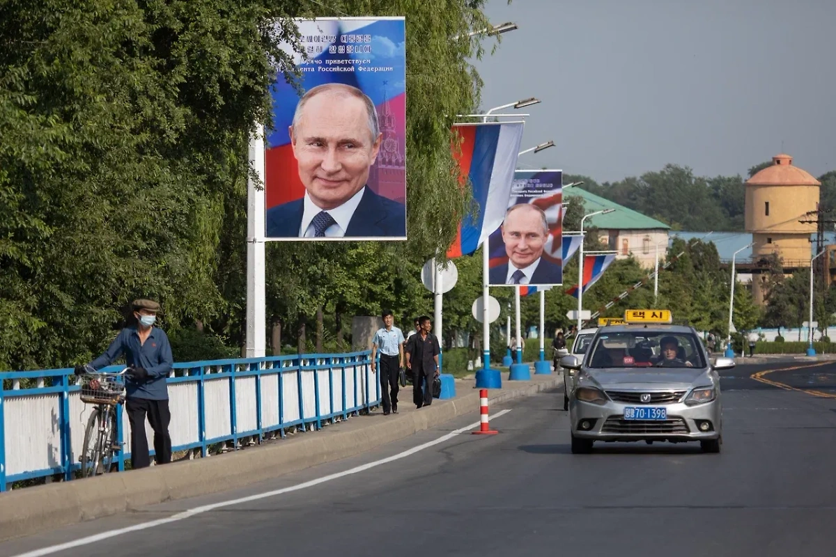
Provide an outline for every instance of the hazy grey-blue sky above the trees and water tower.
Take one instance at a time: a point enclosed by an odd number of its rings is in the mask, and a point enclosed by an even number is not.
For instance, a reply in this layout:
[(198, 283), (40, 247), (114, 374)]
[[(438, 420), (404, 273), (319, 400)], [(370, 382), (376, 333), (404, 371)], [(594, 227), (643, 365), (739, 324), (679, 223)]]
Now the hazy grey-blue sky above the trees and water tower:
[(521, 165), (746, 175), (783, 150), (836, 170), (833, 0), (488, 0), (487, 15), (519, 28), (477, 62), (484, 109), (537, 97), (523, 149), (556, 144)]

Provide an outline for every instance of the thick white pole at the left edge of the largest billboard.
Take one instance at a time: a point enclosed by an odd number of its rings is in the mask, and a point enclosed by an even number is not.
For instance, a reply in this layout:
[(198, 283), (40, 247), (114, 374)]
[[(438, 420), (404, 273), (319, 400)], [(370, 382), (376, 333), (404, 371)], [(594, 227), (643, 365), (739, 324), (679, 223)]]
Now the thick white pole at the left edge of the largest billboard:
[(252, 174), (247, 177), (247, 343), (245, 356), (263, 357), (267, 345), (263, 124), (256, 124), (255, 134), (250, 137), (248, 159), (250, 167), (255, 172), (255, 178)]

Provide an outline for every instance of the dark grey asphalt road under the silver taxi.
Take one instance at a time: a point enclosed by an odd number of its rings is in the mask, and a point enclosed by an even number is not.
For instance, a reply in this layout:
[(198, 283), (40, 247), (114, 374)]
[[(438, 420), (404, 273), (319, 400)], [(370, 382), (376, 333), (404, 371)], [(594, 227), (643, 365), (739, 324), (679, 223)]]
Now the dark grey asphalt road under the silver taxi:
[[(573, 455), (567, 415), (558, 409), (562, 395), (543, 393), (507, 406), (509, 413), (492, 420), (496, 436), (461, 433), (353, 475), (56, 554), (831, 557), (836, 363), (763, 374), (768, 382), (749, 377), (769, 368), (724, 374), (720, 454), (702, 454), (691, 443), (596, 443), (594, 453)], [(803, 392), (810, 385), (818, 396)], [(249, 489), (14, 540), (0, 544), (0, 555), (321, 479), (475, 421), (474, 413)]]

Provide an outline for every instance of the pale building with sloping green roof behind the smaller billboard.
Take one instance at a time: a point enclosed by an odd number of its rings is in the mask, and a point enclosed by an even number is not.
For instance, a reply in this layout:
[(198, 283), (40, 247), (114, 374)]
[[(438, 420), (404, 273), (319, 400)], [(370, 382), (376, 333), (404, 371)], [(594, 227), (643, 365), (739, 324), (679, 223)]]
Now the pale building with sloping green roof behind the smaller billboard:
[(655, 264), (657, 246), (660, 258), (664, 257), (669, 241), (669, 225), (577, 187), (563, 190), (563, 195), (567, 204), (572, 203), (569, 198), (573, 196), (583, 198), (585, 213), (614, 209), (606, 215), (589, 217), (584, 222), (584, 227), (596, 227), (601, 243), (608, 246), (609, 250), (617, 251), (619, 259), (632, 255), (642, 266), (652, 267)]

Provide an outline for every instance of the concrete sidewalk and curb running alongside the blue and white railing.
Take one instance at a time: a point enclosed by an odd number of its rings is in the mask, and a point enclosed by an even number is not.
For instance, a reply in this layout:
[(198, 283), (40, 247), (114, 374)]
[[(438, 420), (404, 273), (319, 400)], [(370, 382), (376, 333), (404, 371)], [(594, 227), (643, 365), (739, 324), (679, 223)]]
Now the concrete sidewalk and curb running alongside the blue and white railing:
[[(507, 381), (488, 392), (490, 403), (531, 396), (561, 387), (560, 374), (534, 375), (531, 381)], [(479, 391), (472, 378), (456, 380), (456, 397), (436, 399), (416, 409), (412, 388), (400, 391), (399, 413), (384, 416), (380, 408), (368, 415), (329, 425), (318, 432), (294, 433), (232, 453), (181, 460), (96, 478), (45, 484), (0, 494), (0, 540), (36, 534), (158, 504), (237, 489), (265, 479), (364, 453), (467, 413), (478, 413)]]

